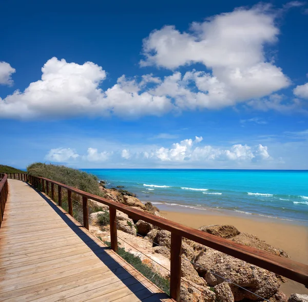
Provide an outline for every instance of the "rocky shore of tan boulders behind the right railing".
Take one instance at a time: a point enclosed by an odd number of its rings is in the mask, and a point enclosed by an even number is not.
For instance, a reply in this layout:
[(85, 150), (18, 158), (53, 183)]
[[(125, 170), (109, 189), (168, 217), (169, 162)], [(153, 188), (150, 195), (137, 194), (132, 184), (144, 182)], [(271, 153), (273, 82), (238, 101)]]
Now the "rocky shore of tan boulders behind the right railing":
[[(123, 187), (109, 189), (101, 182), (100, 190), (106, 198), (163, 217), (157, 207), (150, 202), (142, 203), (135, 194)], [(102, 212), (90, 215), (90, 231), (103, 241), (110, 241), (109, 226), (102, 228), (98, 224), (98, 217), (108, 210), (108, 206), (103, 205)], [(142, 220), (133, 220), (119, 211), (117, 225), (121, 247), (139, 256), (153, 271), (169, 278), (170, 232)], [(232, 225), (205, 225), (200, 230), (290, 258), (285, 251), (267, 244), (253, 234), (241, 233)], [(307, 295), (292, 294), (287, 298), (279, 289), (284, 281), (282, 276), (183, 238), (181, 301), (262, 301), (264, 298), (271, 302), (308, 302)]]

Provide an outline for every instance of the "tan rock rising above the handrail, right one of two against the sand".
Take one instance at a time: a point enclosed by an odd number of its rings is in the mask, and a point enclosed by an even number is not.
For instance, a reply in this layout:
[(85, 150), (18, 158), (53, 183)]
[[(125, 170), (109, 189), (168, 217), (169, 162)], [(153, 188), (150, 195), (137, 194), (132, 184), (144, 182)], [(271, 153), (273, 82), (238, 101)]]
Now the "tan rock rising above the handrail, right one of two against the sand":
[(232, 241), (236, 243), (244, 244), (244, 246), (256, 248), (265, 252), (275, 254), (277, 256), (290, 258), (290, 256), (283, 250), (274, 248), (263, 240), (260, 240), (257, 236), (249, 233), (241, 233), (232, 238)]

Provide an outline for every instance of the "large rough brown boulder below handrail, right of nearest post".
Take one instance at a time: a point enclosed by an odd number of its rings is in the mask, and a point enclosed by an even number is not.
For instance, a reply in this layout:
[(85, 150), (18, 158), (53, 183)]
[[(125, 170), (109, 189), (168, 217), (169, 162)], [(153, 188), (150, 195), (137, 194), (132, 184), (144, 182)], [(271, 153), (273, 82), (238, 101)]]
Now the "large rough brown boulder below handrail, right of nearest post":
[[(206, 252), (200, 253), (195, 262), (198, 265), (195, 266), (196, 270), (201, 276), (204, 276), (210, 286), (219, 285), (224, 281), (223, 278), (217, 276), (219, 275), (265, 299), (274, 295), (280, 286), (274, 273), (213, 249), (208, 248)], [(259, 299), (254, 294), (235, 285), (230, 284), (229, 286), (235, 301), (240, 301), (244, 298)]]

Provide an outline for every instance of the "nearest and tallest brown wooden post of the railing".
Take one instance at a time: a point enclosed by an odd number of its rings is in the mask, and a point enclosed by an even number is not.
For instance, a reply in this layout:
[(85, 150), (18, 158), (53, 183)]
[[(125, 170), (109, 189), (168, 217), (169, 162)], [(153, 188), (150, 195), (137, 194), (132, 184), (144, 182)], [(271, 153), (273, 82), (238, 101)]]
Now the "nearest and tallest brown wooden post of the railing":
[(170, 297), (180, 301), (182, 236), (171, 232), (170, 247)]

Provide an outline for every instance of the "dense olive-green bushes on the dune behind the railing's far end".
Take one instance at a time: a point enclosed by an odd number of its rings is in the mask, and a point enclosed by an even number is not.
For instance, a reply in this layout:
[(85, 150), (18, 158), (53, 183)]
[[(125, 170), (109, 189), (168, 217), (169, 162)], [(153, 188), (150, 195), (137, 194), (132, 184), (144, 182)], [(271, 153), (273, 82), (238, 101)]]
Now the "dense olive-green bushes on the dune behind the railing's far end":
[[(104, 197), (104, 192), (99, 188), (98, 178), (94, 175), (82, 172), (78, 169), (69, 168), (63, 165), (53, 165), (45, 163), (33, 163), (27, 167), (30, 175), (45, 177), (63, 184), (78, 188), (79, 190)], [(41, 184), (38, 187), (42, 191)], [(51, 184), (49, 184), (49, 195), (51, 196)], [(45, 188), (46, 192), (46, 188)], [(54, 201), (58, 202), (58, 188), (54, 185)], [(72, 193), (73, 217), (83, 223), (82, 197)], [(68, 211), (67, 190), (62, 190), (62, 208)], [(97, 203), (88, 200), (89, 214), (103, 211), (102, 207)]]

